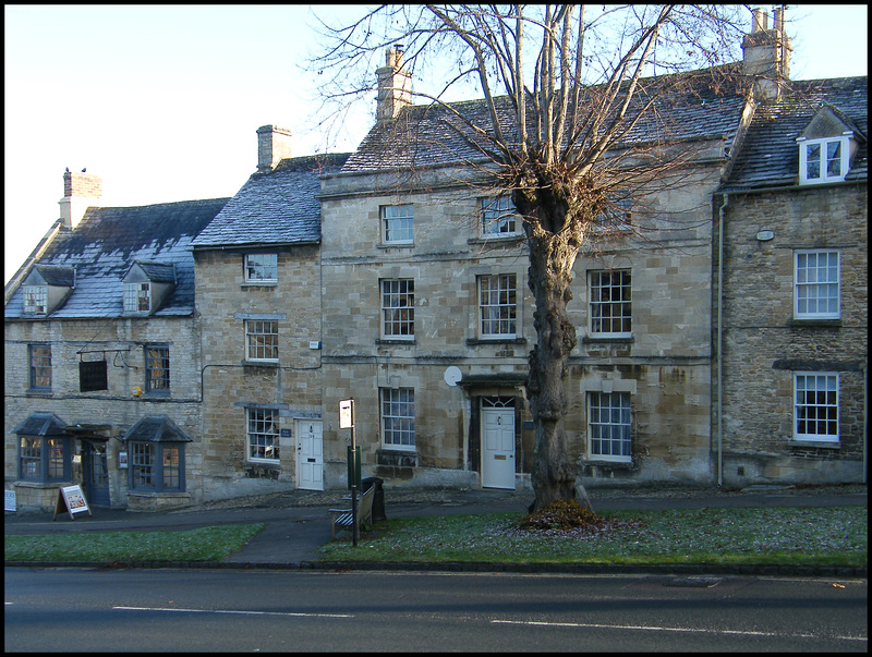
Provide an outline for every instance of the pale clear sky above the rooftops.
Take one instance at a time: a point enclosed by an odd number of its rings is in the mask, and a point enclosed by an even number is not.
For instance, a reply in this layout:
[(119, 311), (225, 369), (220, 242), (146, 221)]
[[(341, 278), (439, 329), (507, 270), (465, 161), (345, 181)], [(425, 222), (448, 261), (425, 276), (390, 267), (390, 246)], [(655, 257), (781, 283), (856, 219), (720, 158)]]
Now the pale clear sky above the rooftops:
[[(7, 281), (58, 218), (66, 167), (102, 178), (104, 205), (232, 196), (256, 168), (258, 126), (290, 129), (310, 155), (353, 150), (373, 120), (332, 144), (313, 127), (308, 5), (7, 4), (4, 19)], [(792, 78), (867, 74), (865, 5), (787, 19)]]

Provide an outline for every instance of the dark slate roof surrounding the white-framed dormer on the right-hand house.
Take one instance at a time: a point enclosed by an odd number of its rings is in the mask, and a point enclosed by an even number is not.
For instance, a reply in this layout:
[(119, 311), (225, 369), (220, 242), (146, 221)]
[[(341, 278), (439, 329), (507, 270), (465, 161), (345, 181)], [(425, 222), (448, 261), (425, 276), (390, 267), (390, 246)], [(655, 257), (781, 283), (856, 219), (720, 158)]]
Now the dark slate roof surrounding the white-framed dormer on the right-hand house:
[(795, 185), (799, 180), (797, 137), (824, 104), (849, 119), (861, 132), (859, 148), (846, 180), (868, 180), (868, 77), (804, 80), (788, 83), (777, 104), (756, 108), (740, 153), (724, 184), (725, 191)]

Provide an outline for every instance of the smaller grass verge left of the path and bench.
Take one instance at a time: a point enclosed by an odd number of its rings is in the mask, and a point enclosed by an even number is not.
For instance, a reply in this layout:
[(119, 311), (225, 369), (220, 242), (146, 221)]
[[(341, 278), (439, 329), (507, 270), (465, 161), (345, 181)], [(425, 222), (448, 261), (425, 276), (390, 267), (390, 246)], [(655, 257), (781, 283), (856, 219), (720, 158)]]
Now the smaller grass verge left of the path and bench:
[(7, 561), (220, 561), (266, 523), (180, 532), (96, 532), (7, 536)]

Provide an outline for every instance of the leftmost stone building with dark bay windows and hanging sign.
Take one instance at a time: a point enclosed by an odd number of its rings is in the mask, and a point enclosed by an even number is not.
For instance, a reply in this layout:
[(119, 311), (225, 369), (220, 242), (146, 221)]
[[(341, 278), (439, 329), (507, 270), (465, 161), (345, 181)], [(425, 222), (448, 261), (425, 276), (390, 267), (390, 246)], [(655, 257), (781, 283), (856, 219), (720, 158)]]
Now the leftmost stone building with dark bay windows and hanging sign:
[(193, 238), (226, 198), (94, 207), (100, 179), (64, 174), (61, 218), (5, 289), (4, 488), (51, 510), (201, 498), (201, 329)]

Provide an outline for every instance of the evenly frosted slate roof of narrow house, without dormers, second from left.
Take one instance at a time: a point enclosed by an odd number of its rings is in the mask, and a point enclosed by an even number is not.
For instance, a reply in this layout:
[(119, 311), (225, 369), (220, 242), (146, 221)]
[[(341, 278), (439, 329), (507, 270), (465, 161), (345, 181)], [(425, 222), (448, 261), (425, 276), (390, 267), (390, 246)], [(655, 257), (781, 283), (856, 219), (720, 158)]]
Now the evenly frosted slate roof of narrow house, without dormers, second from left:
[(252, 174), (194, 240), (194, 248), (318, 243), (319, 177), (339, 171), (347, 158), (348, 154), (289, 158), (268, 173)]

